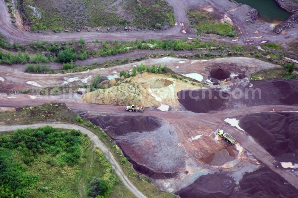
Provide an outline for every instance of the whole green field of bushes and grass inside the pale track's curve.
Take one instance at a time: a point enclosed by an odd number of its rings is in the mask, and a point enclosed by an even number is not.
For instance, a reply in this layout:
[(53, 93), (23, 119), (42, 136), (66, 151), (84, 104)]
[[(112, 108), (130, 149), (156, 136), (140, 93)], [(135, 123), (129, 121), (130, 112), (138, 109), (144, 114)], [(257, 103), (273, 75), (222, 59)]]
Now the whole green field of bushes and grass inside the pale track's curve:
[(19, 129), (0, 137), (0, 153), (0, 197), (79, 197), (82, 177), (90, 197), (107, 197), (119, 183), (103, 153), (78, 130)]

